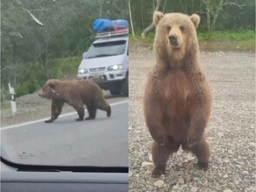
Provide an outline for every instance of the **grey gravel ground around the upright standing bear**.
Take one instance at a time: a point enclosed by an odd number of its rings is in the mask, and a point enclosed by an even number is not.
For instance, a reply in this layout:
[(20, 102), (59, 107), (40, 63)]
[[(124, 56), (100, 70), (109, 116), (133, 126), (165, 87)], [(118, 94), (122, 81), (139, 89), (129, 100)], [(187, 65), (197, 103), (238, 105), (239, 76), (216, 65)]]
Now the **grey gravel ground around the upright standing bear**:
[(167, 162), (167, 175), (152, 178), (153, 139), (146, 129), (142, 99), (153, 52), (136, 47), (130, 56), (130, 184), (139, 191), (256, 191), (255, 55), (250, 52), (202, 52), (215, 95), (206, 135), (212, 148), (210, 169), (181, 149)]

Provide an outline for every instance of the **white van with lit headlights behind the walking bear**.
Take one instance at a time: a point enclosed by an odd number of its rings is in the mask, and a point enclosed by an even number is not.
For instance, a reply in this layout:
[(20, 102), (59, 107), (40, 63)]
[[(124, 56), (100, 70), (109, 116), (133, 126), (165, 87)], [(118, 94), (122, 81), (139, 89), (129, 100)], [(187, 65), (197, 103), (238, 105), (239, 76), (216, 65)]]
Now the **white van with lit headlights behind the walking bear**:
[(127, 31), (96, 35), (82, 55), (78, 79), (91, 79), (112, 95), (128, 96), (129, 35)]

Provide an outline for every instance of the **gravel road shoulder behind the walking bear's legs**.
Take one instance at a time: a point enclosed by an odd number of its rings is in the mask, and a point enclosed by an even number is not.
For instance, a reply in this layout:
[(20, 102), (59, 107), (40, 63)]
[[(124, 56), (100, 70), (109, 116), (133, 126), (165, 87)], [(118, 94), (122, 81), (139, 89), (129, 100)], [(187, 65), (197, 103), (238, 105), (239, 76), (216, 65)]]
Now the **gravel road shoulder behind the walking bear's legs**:
[[(41, 120), (51, 116), (51, 100), (41, 99), (39, 92), (28, 94), (16, 99), (17, 112), (12, 115), (11, 104), (7, 102), (1, 108), (1, 127), (7, 127), (32, 120)], [(112, 97), (108, 91), (104, 91), (109, 103), (115, 103), (128, 99), (127, 97)], [(65, 104), (61, 114), (75, 112), (72, 106)], [(85, 112), (85, 116), (88, 113)]]

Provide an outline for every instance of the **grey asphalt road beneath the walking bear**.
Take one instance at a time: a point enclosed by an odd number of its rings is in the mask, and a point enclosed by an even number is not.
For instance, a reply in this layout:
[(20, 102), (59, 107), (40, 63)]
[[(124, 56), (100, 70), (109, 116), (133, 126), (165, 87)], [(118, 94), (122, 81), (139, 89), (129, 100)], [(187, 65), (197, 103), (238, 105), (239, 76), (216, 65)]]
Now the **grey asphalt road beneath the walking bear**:
[[(128, 166), (128, 101), (111, 105), (111, 117), (75, 121), (77, 113), (1, 129), (12, 161), (44, 165)], [(86, 113), (87, 115), (87, 113)]]

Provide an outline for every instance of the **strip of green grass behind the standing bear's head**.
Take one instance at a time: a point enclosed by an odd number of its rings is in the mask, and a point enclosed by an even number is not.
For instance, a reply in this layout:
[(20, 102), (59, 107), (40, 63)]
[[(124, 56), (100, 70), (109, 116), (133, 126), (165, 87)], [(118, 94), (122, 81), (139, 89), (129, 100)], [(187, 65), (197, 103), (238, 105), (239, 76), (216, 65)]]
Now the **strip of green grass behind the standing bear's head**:
[[(139, 43), (153, 48), (154, 33), (148, 33), (146, 38), (136, 34), (130, 35), (130, 42)], [(201, 51), (254, 51), (255, 31), (214, 31), (212, 33), (198, 32), (198, 41)]]

